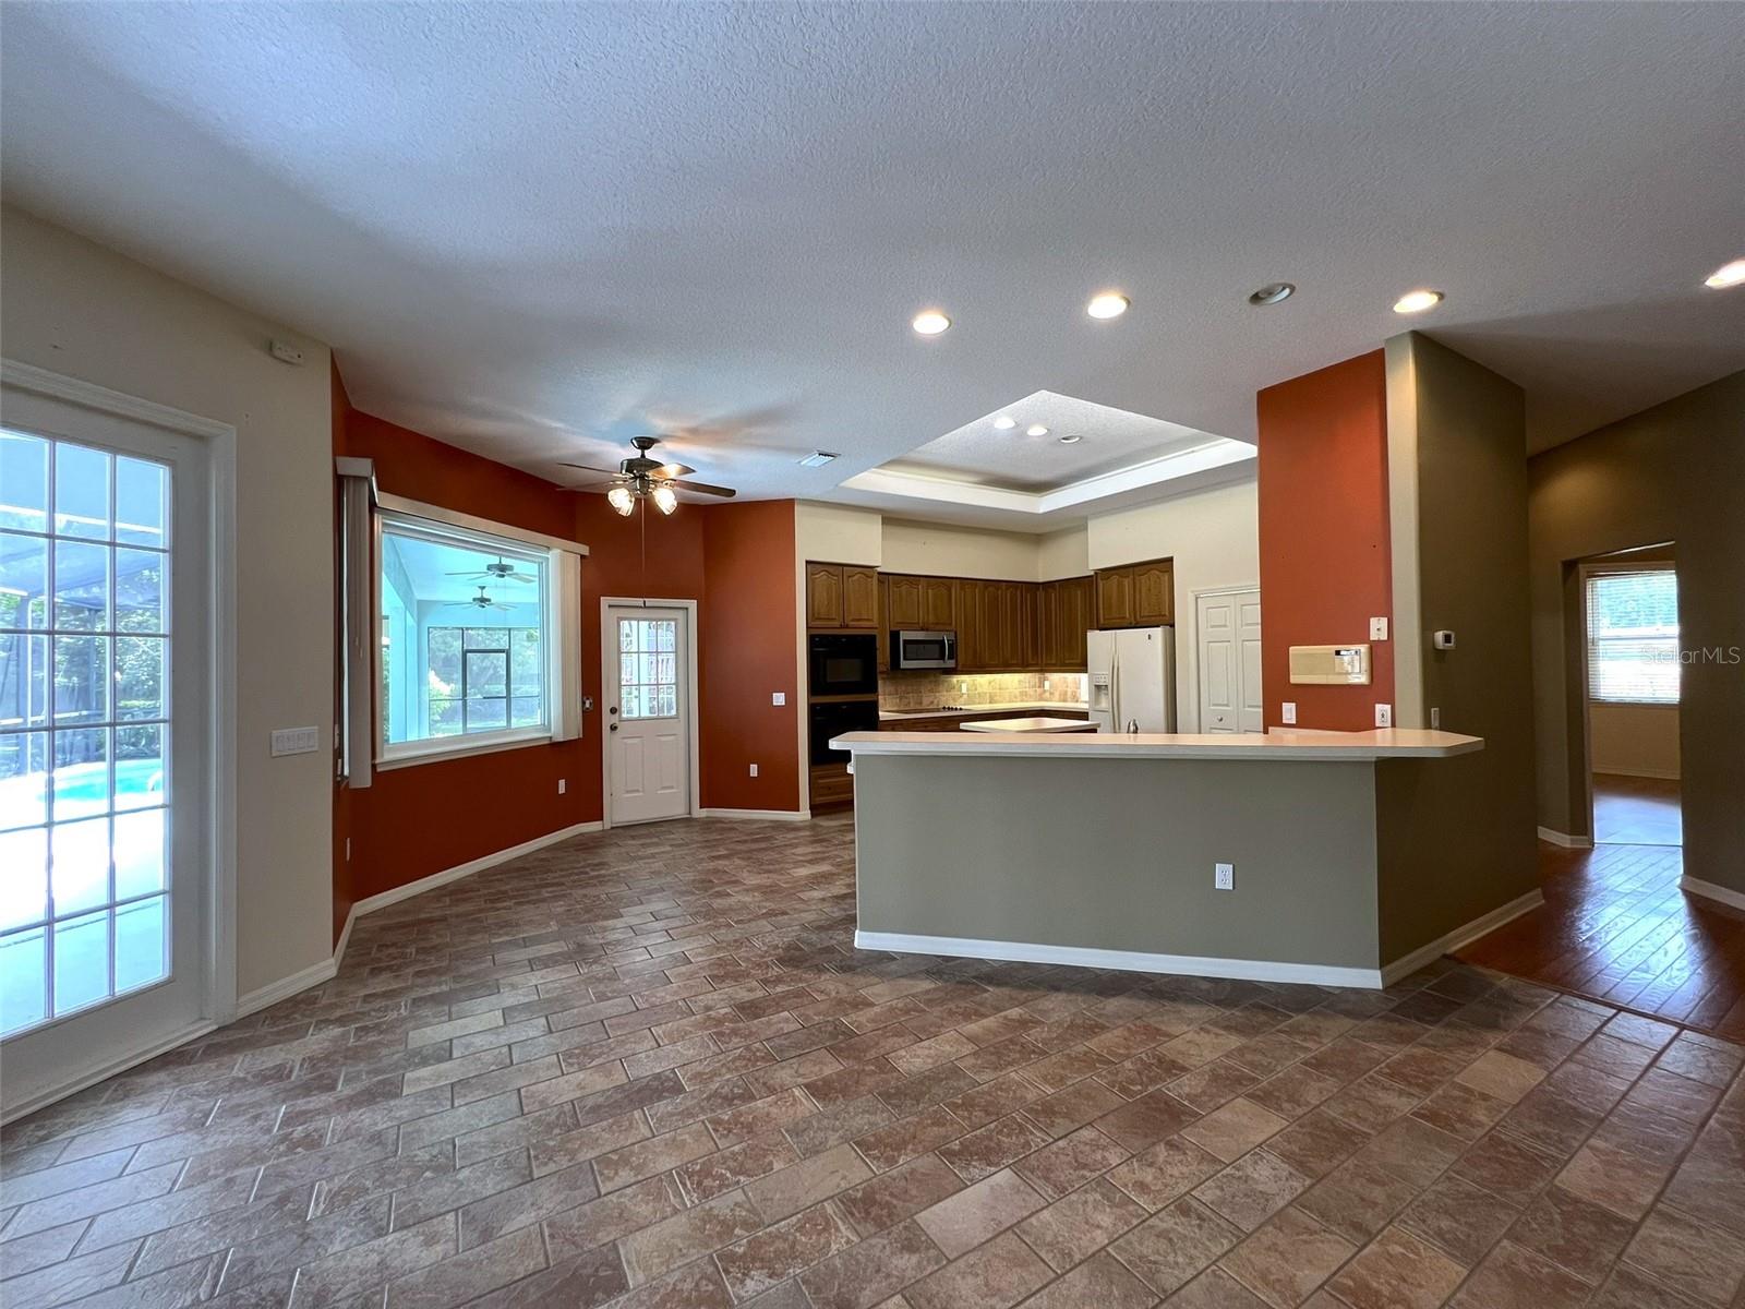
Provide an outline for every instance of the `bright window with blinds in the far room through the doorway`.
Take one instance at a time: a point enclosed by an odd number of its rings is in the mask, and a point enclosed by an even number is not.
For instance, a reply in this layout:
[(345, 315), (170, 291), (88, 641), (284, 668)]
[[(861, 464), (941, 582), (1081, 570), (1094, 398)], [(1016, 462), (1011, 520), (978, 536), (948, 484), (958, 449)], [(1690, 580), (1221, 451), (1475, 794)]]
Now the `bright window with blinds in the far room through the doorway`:
[(1672, 569), (1590, 572), (1588, 698), (1679, 703), (1679, 579)]

